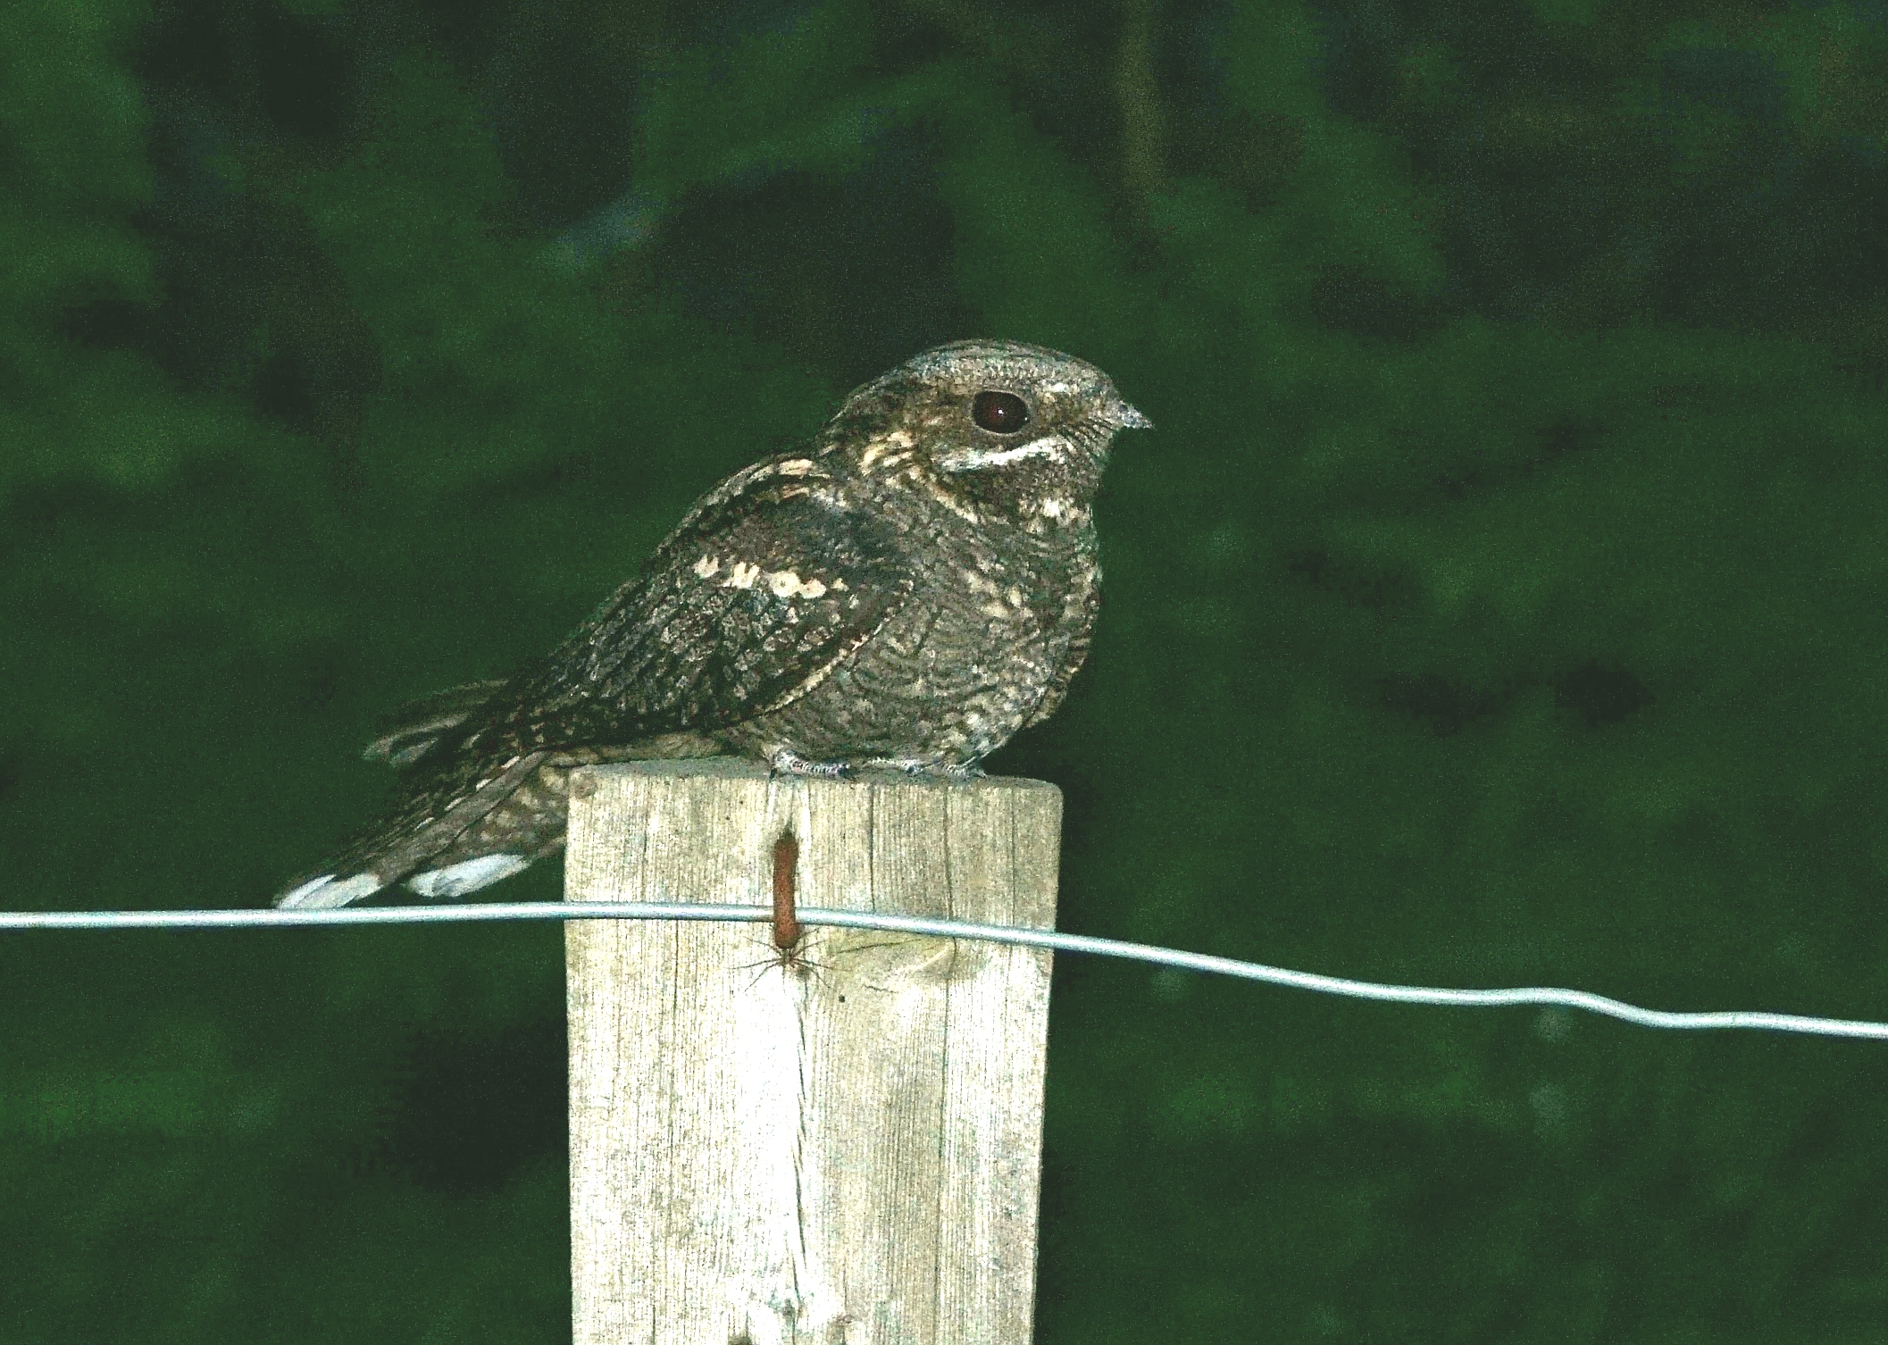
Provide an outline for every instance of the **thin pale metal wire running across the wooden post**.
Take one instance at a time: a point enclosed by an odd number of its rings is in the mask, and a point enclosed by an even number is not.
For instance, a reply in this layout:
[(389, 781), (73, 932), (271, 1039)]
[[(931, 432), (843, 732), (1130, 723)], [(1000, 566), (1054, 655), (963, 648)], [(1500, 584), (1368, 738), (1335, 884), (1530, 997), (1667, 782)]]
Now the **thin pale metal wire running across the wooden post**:
[[(1086, 952), (1101, 958), (1127, 958), (1161, 967), (1199, 971), (1273, 986), (1312, 990), (1352, 999), (1382, 999), (1407, 1005), (1454, 1005), (1499, 1009), (1512, 1005), (1552, 1005), (1584, 1009), (1620, 1018), (1641, 1028), (1703, 1031), (1743, 1028), (1792, 1031), (1814, 1037), (1888, 1037), (1888, 1022), (1854, 1018), (1816, 1018), (1794, 1013), (1726, 1009), (1718, 1013), (1671, 1013), (1595, 996), (1588, 990), (1556, 986), (1518, 986), (1509, 990), (1450, 990), (1442, 986), (1391, 986), (1314, 971), (1269, 967), (1263, 962), (1214, 958), (1205, 952), (1155, 948), (1144, 943), (1097, 939), (1055, 929), (1016, 929), (1008, 926), (931, 920), (925, 916), (887, 916), (870, 911), (797, 911), (802, 926), (844, 929), (885, 929), (936, 939), (978, 939), (1052, 952)], [(768, 922), (772, 907), (674, 905), (655, 901), (487, 901), (463, 907), (353, 907), (342, 911), (0, 911), (0, 929), (287, 929), (306, 926), (383, 926), (383, 924), (483, 924), (493, 920), (738, 920)]]

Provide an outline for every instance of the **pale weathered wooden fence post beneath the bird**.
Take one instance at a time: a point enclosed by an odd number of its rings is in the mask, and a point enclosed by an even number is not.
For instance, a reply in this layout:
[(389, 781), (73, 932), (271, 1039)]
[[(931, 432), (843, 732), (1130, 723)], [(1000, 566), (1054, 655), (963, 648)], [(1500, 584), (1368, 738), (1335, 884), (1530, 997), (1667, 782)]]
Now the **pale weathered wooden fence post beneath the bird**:
[[(1050, 928), (1061, 792), (578, 773), (572, 901)], [(576, 1345), (1027, 1345), (1050, 956), (868, 929), (566, 926)]]

